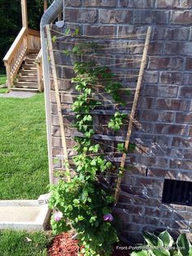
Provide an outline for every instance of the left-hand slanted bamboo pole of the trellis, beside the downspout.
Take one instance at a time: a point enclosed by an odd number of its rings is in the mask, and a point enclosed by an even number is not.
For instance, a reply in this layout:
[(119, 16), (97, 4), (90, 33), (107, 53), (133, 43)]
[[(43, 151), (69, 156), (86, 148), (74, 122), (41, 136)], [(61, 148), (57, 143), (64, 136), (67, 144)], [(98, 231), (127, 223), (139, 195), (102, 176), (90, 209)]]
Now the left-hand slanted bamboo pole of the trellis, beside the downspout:
[[(55, 57), (54, 57), (54, 52), (53, 52), (53, 45), (52, 45), (52, 40), (51, 40), (51, 35), (50, 35), (50, 25), (46, 25), (46, 33), (47, 33), (47, 40), (48, 40), (48, 49), (50, 53), (50, 61), (51, 61), (51, 67), (52, 67), (52, 72), (53, 72), (53, 77), (54, 77), (54, 85), (55, 85), (55, 97), (56, 97), (56, 102), (57, 102), (57, 110), (58, 110), (58, 116), (59, 116), (59, 126), (61, 130), (61, 139), (62, 139), (62, 147), (63, 147), (63, 157), (66, 165), (66, 170), (70, 172), (69, 167), (68, 167), (68, 151), (67, 151), (67, 144), (66, 144), (66, 139), (65, 139), (65, 130), (64, 130), (64, 123), (63, 123), (63, 115), (62, 115), (62, 109), (61, 109), (61, 102), (60, 102), (60, 97), (59, 97), (59, 84), (58, 84), (58, 79), (57, 79), (57, 72), (55, 68)], [(71, 177), (70, 174), (67, 176), (68, 182), (70, 182)]]

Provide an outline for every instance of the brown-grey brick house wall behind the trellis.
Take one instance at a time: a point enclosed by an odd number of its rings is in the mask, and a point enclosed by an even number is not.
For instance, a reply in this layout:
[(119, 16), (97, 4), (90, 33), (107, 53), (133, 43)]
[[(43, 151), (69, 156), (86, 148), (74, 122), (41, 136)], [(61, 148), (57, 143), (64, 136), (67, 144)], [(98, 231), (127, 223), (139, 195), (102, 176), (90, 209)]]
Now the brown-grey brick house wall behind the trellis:
[[(164, 178), (192, 179), (191, 0), (68, 0), (65, 20), (88, 35), (144, 33), (146, 26), (153, 25), (137, 105), (139, 126), (132, 135), (132, 139), (143, 143), (131, 155), (133, 166), (125, 174), (116, 214), (126, 240), (141, 241), (142, 231), (154, 232), (159, 228), (190, 234), (192, 207), (165, 205), (161, 199)], [(61, 56), (57, 60), (63, 61)], [(59, 85), (61, 90), (68, 87), (62, 82)], [(61, 152), (61, 141), (53, 91), (51, 94), (55, 157)], [(66, 96), (62, 100), (70, 101)], [(71, 135), (67, 131), (69, 154), (72, 154)]]

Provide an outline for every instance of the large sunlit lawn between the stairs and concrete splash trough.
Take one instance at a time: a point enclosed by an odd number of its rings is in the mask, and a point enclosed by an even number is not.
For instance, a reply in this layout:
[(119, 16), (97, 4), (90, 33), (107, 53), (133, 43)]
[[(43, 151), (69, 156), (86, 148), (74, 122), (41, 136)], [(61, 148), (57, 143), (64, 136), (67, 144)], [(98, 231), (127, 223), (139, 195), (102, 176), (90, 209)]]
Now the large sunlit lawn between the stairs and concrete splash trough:
[(0, 109), (0, 200), (37, 199), (49, 183), (44, 95), (0, 98)]

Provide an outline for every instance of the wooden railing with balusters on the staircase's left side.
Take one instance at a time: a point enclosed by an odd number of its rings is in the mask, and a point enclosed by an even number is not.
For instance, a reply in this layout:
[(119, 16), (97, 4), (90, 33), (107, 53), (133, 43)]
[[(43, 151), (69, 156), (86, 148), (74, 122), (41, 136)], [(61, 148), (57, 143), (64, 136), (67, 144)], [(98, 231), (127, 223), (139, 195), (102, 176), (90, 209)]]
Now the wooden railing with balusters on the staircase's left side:
[(23, 27), (3, 59), (7, 72), (7, 88), (9, 90), (27, 53), (38, 52), (40, 49), (40, 33)]

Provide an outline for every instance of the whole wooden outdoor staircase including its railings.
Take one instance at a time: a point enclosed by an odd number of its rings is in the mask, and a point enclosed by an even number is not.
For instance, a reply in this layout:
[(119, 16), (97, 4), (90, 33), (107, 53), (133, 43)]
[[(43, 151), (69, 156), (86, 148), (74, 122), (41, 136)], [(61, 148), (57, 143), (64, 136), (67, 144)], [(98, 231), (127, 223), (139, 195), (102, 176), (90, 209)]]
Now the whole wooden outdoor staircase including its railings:
[(23, 27), (3, 59), (8, 90), (42, 91), (40, 33)]

